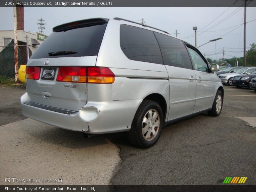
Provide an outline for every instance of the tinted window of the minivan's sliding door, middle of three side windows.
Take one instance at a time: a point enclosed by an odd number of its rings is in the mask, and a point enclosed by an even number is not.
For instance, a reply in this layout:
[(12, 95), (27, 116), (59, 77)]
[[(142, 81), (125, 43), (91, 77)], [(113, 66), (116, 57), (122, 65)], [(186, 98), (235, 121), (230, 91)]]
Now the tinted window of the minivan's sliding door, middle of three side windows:
[(181, 40), (161, 33), (154, 33), (163, 54), (164, 65), (192, 69), (188, 51)]

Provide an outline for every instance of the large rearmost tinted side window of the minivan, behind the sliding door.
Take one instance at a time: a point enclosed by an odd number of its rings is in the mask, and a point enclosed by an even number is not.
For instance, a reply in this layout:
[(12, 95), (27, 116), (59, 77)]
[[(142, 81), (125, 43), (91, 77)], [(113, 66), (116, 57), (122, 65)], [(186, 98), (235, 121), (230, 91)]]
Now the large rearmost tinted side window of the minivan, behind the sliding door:
[(121, 25), (120, 46), (126, 57), (131, 60), (163, 64), (153, 31)]

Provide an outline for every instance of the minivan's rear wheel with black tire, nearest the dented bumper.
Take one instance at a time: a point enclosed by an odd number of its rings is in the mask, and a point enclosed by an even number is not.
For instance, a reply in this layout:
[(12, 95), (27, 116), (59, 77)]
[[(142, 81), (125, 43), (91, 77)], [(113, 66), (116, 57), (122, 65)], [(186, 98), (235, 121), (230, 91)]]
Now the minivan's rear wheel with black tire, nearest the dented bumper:
[(136, 147), (149, 148), (155, 145), (162, 129), (161, 107), (155, 101), (143, 100), (133, 118), (131, 129), (127, 132), (127, 138)]

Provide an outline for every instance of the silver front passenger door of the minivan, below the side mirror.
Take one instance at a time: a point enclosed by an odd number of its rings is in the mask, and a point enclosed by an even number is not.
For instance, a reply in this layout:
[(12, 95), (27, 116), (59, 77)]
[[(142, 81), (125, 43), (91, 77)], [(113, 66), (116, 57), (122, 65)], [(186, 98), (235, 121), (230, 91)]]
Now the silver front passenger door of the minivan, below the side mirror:
[(211, 73), (207, 61), (195, 48), (188, 47), (196, 74), (196, 104), (193, 113), (212, 108), (215, 74)]

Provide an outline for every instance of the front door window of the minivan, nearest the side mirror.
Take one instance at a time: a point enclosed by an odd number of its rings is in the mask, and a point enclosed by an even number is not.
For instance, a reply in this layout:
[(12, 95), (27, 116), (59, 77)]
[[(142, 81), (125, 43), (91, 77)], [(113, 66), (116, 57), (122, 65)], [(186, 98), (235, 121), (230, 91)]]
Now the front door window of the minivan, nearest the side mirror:
[(203, 58), (193, 49), (188, 48), (188, 52), (191, 56), (194, 69), (198, 71), (208, 72), (207, 64), (204, 62)]

